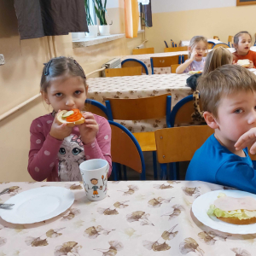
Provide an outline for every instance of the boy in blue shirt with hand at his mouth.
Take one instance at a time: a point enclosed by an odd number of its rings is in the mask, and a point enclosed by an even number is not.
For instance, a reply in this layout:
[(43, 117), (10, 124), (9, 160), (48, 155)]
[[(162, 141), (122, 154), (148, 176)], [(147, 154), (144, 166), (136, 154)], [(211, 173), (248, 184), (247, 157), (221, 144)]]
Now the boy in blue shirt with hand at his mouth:
[(256, 76), (244, 67), (224, 65), (202, 76), (197, 88), (214, 134), (195, 152), (186, 179), (256, 194), (256, 171), (247, 148), (241, 148), (242, 142), (255, 141), (249, 137), (256, 134)]

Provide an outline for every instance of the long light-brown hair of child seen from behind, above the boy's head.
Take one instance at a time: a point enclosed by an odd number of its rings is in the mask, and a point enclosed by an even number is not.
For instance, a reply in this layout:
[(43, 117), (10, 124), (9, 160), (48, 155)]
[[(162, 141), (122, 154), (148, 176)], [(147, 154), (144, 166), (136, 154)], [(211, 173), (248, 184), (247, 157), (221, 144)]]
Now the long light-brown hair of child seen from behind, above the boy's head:
[(224, 47), (218, 47), (217, 49), (212, 49), (207, 55), (207, 60), (205, 62), (205, 67), (203, 74), (210, 73), (217, 67), (223, 66), (225, 64), (232, 64), (233, 55), (229, 49)]

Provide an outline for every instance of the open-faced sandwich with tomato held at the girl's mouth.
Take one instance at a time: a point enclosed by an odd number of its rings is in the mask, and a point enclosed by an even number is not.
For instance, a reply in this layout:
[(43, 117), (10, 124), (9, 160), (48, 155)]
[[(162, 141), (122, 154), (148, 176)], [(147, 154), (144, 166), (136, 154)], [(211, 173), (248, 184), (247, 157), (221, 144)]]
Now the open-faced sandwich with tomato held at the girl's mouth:
[(57, 113), (56, 119), (61, 124), (67, 124), (67, 126), (73, 127), (74, 125), (81, 125), (85, 122), (85, 119), (79, 109), (72, 109), (70, 111), (62, 110)]

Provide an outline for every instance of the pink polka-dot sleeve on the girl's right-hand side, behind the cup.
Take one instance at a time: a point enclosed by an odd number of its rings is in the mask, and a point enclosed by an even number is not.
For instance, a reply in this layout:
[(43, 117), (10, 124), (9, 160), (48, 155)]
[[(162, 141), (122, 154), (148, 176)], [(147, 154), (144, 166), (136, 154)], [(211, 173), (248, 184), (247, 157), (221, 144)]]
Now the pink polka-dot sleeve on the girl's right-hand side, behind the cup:
[(96, 119), (99, 125), (99, 131), (93, 143), (84, 145), (84, 154), (86, 160), (104, 159), (108, 161), (108, 177), (112, 172), (111, 158), (111, 127), (108, 120), (97, 116)]

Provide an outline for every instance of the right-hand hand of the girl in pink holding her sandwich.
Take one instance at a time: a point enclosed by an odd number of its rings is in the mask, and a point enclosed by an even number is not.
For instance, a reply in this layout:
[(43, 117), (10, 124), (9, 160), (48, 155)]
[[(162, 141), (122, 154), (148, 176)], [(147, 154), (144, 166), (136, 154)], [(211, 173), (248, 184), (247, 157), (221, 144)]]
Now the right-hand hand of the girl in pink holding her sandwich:
[(96, 133), (99, 131), (99, 125), (94, 119), (94, 115), (89, 112), (82, 113), (85, 119), (84, 124), (79, 125), (79, 131), (84, 144), (92, 143), (96, 138)]

